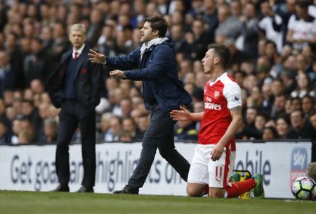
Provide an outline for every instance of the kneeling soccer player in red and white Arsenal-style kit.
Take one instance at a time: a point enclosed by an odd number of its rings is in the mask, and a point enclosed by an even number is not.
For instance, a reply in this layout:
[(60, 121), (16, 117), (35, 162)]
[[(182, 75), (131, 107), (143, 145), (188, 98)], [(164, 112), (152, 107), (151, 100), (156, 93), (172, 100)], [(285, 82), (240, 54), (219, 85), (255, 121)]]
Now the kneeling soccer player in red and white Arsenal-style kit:
[(186, 108), (171, 111), (173, 120), (201, 120), (198, 144), (187, 178), (188, 196), (202, 196), (209, 185), (209, 196), (237, 197), (254, 188), (254, 196), (264, 197), (263, 177), (229, 183), (235, 165), (235, 133), (242, 124), (242, 93), (226, 72), (230, 60), (228, 47), (211, 44), (202, 63), (211, 75), (204, 90), (204, 112), (190, 113)]

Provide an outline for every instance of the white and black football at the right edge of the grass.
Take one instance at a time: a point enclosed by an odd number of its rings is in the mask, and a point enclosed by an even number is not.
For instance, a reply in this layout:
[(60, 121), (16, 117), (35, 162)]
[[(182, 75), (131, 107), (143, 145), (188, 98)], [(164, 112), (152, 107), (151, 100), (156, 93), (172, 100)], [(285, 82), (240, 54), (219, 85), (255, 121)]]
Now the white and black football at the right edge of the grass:
[(316, 196), (316, 184), (310, 177), (298, 177), (293, 182), (292, 194), (296, 199), (310, 200)]

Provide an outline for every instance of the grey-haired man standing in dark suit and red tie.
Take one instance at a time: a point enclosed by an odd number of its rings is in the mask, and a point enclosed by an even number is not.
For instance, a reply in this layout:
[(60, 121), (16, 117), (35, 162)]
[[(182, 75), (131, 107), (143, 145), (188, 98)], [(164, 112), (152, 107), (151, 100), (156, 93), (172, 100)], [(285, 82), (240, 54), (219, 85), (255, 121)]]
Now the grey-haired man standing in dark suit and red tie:
[(102, 92), (101, 65), (88, 60), (84, 25), (70, 27), (72, 50), (62, 55), (60, 66), (49, 77), (53, 105), (61, 108), (56, 149), (60, 184), (54, 191), (69, 191), (69, 144), (77, 126), (81, 130), (84, 179), (79, 192), (93, 192), (96, 177), (96, 112)]

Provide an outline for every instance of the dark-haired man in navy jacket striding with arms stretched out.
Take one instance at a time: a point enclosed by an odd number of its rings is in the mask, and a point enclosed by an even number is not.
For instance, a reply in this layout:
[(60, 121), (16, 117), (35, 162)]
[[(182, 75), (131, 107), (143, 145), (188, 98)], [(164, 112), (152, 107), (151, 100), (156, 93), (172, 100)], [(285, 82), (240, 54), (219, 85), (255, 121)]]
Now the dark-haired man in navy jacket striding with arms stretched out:
[(143, 43), (131, 53), (119, 57), (105, 57), (102, 53), (91, 50), (88, 54), (92, 62), (120, 69), (112, 71), (111, 77), (143, 80), (145, 107), (150, 110), (151, 115), (136, 169), (124, 189), (114, 191), (114, 194), (138, 194), (150, 172), (157, 148), (180, 177), (187, 180), (190, 164), (175, 149), (175, 122), (169, 113), (182, 105), (189, 105), (192, 99), (178, 80), (173, 46), (169, 39), (164, 37), (167, 28), (166, 20), (160, 16), (145, 18), (141, 30)]

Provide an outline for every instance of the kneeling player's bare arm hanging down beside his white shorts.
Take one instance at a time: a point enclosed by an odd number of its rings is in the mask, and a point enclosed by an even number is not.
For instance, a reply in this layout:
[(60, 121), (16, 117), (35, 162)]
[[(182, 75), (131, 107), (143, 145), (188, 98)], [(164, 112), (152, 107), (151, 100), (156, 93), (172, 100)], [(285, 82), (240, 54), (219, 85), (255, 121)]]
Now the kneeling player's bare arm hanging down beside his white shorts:
[(230, 115), (232, 115), (232, 122), (230, 122), (225, 134), (214, 146), (213, 151), (211, 152), (211, 159), (214, 161), (222, 156), (226, 144), (228, 144), (230, 139), (235, 136), (238, 128), (242, 125), (242, 106), (230, 109)]

